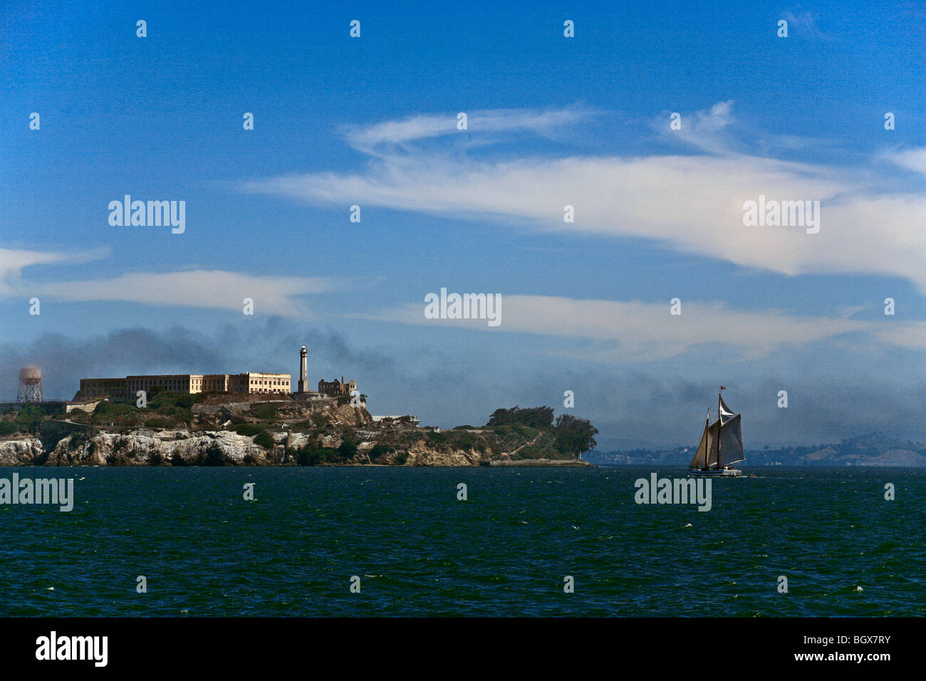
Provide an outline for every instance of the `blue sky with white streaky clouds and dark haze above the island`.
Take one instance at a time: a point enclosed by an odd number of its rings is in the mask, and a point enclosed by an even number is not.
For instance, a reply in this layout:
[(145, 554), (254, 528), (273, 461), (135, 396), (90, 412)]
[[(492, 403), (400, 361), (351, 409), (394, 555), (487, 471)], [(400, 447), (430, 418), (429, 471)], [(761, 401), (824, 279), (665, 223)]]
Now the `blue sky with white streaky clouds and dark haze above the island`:
[[(228, 5), (0, 9), (0, 399), (307, 343), (444, 426), (573, 390), (606, 448), (689, 444), (722, 383), (747, 447), (926, 436), (922, 6)], [(126, 194), (185, 232), (111, 226)], [(502, 324), (426, 320), (441, 287)]]

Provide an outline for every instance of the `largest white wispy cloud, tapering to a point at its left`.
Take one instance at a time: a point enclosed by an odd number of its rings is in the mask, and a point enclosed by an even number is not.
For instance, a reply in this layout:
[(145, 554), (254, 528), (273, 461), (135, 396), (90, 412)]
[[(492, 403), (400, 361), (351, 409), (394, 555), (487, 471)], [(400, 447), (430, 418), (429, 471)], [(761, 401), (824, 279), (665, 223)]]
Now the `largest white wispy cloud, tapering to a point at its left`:
[[(565, 125), (567, 114), (505, 112), (507, 130)], [(678, 142), (695, 155), (473, 158), (412, 144), (433, 137), (434, 121), (400, 121), (354, 132), (363, 145), (402, 141), (401, 152), (378, 148), (353, 172), (284, 175), (242, 184), (244, 191), (314, 205), (362, 203), (437, 216), (517, 221), (538, 231), (629, 236), (668, 249), (723, 259), (785, 275), (879, 274), (907, 279), (926, 292), (926, 194), (880, 192), (864, 169), (833, 168), (732, 152), (721, 133), (732, 102), (684, 115)], [(445, 117), (442, 131), (456, 129)], [(470, 126), (477, 133), (478, 127)], [(356, 142), (355, 142), (356, 144)], [(363, 148), (361, 145), (359, 148)], [(905, 157), (906, 158), (906, 157)], [(912, 162), (912, 161), (910, 161)], [(745, 227), (744, 203), (820, 201), (820, 233), (802, 228)], [(563, 221), (564, 206), (575, 221)]]

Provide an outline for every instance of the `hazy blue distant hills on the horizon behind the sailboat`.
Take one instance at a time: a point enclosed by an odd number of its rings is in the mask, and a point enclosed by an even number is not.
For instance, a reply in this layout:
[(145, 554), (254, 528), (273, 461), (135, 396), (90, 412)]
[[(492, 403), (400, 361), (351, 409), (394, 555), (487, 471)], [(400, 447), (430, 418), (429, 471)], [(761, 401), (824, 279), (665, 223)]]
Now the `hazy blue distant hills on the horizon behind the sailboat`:
[[(694, 447), (663, 450), (592, 451), (583, 459), (599, 466), (687, 466)], [(902, 442), (880, 433), (838, 444), (746, 450), (744, 466), (907, 466), (926, 468), (926, 444)]]

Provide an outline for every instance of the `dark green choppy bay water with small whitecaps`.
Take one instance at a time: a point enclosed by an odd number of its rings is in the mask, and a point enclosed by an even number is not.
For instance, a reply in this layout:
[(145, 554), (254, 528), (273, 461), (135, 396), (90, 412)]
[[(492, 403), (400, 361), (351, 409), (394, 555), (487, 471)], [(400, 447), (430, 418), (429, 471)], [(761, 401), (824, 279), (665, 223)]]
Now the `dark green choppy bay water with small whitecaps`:
[(2, 616), (926, 614), (924, 471), (754, 469), (703, 512), (634, 503), (648, 468), (14, 470), (76, 503), (0, 506)]

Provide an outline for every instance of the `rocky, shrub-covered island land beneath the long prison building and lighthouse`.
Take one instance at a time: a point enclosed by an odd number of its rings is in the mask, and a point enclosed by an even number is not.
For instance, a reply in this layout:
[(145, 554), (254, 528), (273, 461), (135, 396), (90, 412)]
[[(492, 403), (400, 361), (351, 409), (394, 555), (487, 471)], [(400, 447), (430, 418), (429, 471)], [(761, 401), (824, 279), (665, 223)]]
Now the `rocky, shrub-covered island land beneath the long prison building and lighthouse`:
[[(363, 396), (360, 396), (363, 397)], [(346, 394), (173, 392), (144, 407), (105, 397), (66, 413), (0, 413), (3, 466), (587, 466), (597, 430), (550, 407), (495, 410), (482, 426), (374, 420)]]

